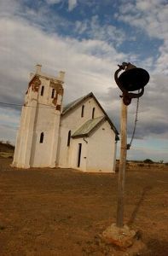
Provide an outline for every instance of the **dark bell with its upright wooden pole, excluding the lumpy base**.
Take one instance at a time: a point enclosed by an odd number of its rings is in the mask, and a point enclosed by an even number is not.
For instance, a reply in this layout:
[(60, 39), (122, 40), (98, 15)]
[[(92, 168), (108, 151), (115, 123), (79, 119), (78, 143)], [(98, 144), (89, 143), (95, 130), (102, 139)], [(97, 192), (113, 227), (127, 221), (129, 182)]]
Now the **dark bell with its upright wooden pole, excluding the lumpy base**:
[[(143, 95), (144, 86), (148, 84), (149, 74), (145, 69), (136, 67), (131, 63), (123, 62), (114, 74), (114, 79), (123, 92), (120, 119), (120, 160), (119, 160), (119, 185), (118, 185), (118, 209), (117, 227), (124, 226), (124, 194), (125, 194), (125, 167), (126, 151), (130, 149), (127, 144), (127, 106), (132, 98), (139, 98)], [(119, 74), (121, 71), (123, 73)], [(130, 92), (138, 90), (138, 93)], [(129, 146), (129, 147), (128, 147)]]

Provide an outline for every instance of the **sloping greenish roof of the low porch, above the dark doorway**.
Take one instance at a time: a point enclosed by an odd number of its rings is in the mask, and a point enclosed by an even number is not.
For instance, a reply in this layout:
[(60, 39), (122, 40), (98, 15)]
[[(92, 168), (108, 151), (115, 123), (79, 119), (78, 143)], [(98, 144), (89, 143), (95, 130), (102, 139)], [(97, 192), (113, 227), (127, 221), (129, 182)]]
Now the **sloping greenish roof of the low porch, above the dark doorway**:
[(104, 116), (98, 117), (96, 119), (90, 119), (80, 126), (77, 131), (72, 134), (72, 137), (84, 137), (89, 136), (90, 132), (95, 130), (97, 126), (105, 119)]

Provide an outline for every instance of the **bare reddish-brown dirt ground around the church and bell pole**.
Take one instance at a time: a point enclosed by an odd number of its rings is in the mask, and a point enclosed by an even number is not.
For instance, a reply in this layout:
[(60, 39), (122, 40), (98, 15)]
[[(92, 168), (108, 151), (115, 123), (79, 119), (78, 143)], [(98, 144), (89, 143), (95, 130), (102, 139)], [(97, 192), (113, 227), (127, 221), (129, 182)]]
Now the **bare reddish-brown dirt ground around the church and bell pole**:
[[(116, 220), (118, 173), (19, 170), (10, 162), (0, 159), (1, 256), (116, 255), (99, 234)], [(141, 255), (168, 255), (168, 166), (126, 172), (125, 224), (148, 246)]]

